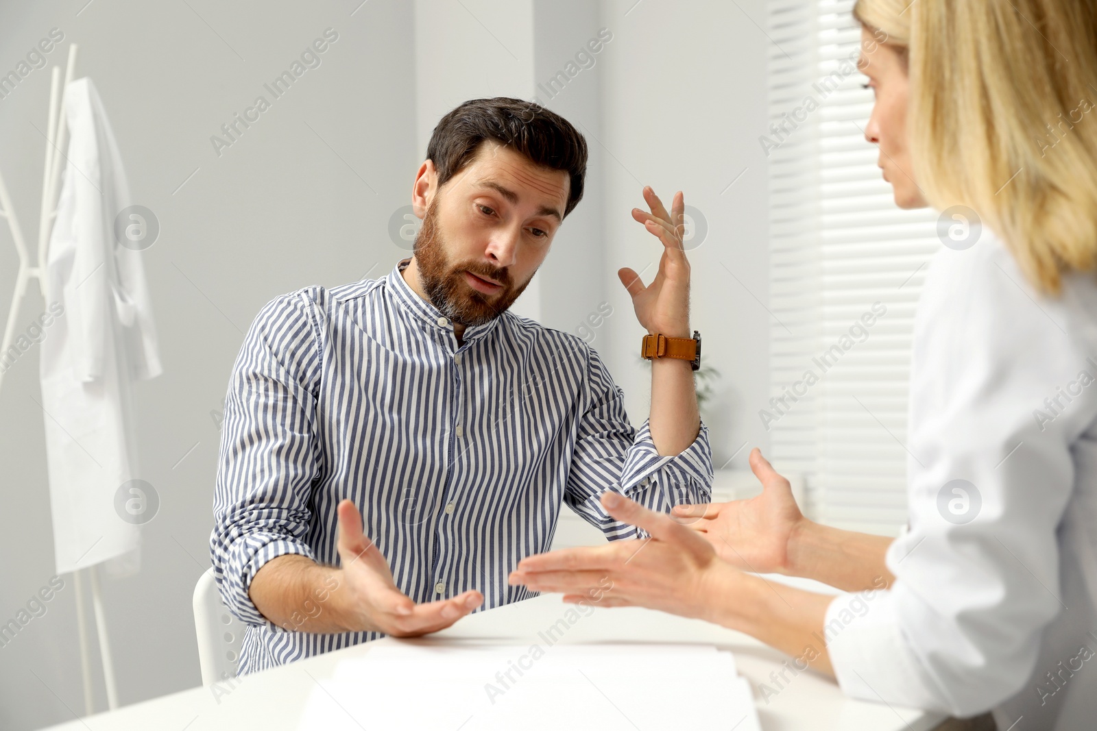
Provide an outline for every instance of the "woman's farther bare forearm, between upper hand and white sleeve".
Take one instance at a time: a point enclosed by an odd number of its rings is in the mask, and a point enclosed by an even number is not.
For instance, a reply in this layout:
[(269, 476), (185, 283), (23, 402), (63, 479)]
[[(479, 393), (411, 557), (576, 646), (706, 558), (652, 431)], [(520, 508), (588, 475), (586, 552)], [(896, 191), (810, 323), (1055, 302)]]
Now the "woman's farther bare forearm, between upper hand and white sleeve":
[(846, 592), (891, 586), (895, 576), (884, 555), (893, 540), (805, 519), (789, 536), (788, 568), (782, 573)]

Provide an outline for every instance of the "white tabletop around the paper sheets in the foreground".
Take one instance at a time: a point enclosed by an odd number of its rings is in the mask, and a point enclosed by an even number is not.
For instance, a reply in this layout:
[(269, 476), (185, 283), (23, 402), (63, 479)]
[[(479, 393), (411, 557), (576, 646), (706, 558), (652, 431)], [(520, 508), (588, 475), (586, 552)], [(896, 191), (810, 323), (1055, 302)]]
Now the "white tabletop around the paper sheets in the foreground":
[[(344, 658), (367, 656), (372, 648), (384, 642), (532, 643), (540, 641), (538, 632), (554, 625), (569, 606), (561, 601), (559, 595), (539, 596), (474, 614), (456, 626), (427, 638), (385, 638), (255, 673), (235, 682), (235, 686), (222, 684), (219, 696), (212, 688), (192, 688), (52, 728), (57, 731), (295, 731), (306, 699), (317, 682), (330, 678), (336, 664)], [(558, 641), (699, 642), (731, 650), (735, 654), (738, 672), (750, 681), (755, 690), (758, 717), (766, 731), (927, 731), (942, 720), (940, 716), (920, 710), (851, 700), (833, 681), (813, 671), (795, 676), (785, 672), (790, 682), (783, 684), (783, 689), (769, 697), (767, 703), (760, 698), (759, 684), (777, 687), (770, 673), (782, 670), (782, 662), (789, 660), (787, 655), (740, 632), (660, 612), (635, 607), (596, 608), (570, 625)], [(155, 669), (150, 671), (155, 672)], [(407, 682), (415, 683), (415, 678), (407, 678)], [(455, 720), (454, 731), (462, 721)]]

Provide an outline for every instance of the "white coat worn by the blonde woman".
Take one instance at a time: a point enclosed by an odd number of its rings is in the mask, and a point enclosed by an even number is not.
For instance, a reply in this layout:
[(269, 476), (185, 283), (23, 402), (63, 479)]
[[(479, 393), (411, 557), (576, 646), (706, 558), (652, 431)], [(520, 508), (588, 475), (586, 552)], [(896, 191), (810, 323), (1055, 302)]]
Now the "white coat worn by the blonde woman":
[[(994, 708), (1003, 731), (1021, 716), (1015, 729), (1095, 728), (1095, 421), (1097, 278), (1042, 297), (985, 227), (935, 254), (915, 318), (909, 525), (886, 555), (896, 581), (826, 614), (842, 690)], [(954, 479), (982, 498), (963, 525), (939, 510)]]

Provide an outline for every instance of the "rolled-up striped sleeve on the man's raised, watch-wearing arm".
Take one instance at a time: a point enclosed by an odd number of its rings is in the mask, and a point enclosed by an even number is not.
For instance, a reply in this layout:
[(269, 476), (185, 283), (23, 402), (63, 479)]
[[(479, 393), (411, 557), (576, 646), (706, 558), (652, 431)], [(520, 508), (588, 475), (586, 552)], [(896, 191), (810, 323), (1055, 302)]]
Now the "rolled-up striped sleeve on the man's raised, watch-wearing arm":
[(697, 438), (678, 455), (659, 455), (648, 423), (633, 427), (624, 409), (624, 395), (613, 382), (598, 354), (588, 346), (589, 402), (580, 418), (565, 502), (608, 538), (646, 534), (610, 517), (601, 494), (614, 490), (644, 506), (669, 512), (680, 503), (712, 499), (712, 449), (702, 423)]

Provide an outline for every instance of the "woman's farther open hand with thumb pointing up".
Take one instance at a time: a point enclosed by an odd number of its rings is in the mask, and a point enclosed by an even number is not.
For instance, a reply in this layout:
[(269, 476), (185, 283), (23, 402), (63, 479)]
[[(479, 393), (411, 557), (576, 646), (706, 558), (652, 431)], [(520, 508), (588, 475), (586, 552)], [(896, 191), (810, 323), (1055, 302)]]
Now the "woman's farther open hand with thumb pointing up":
[(791, 573), (791, 545), (808, 523), (792, 496), (789, 481), (777, 473), (757, 448), (750, 469), (761, 482), (760, 495), (708, 505), (677, 505), (678, 518), (704, 536), (716, 555), (734, 567), (758, 573)]

